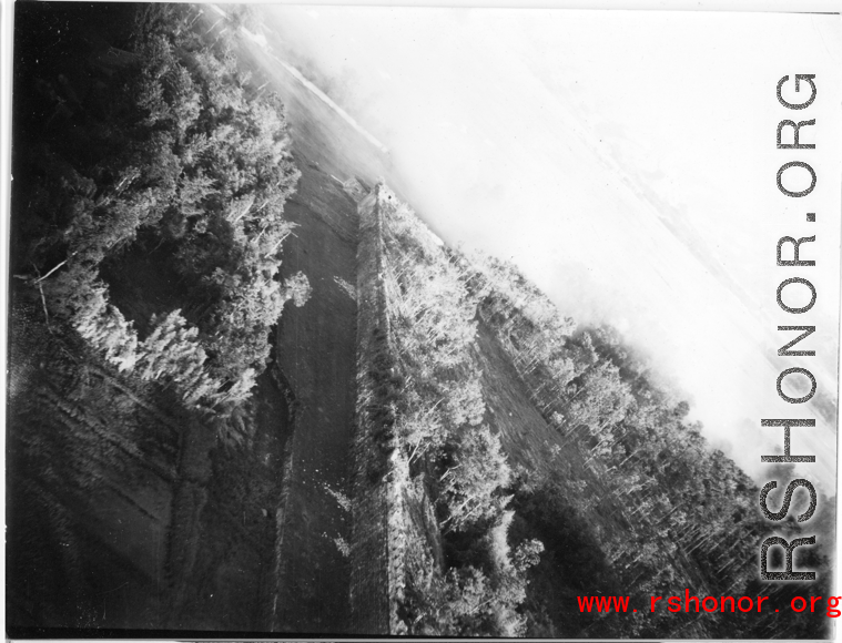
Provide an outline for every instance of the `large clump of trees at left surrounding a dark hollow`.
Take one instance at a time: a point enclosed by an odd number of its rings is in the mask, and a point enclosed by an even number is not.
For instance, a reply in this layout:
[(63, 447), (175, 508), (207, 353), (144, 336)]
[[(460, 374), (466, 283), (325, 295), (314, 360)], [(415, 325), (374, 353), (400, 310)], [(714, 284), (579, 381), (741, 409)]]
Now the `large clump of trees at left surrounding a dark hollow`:
[(133, 18), (121, 48), (89, 52), (83, 88), (38, 85), (50, 118), (21, 152), (16, 273), (53, 327), (225, 417), (265, 368), (284, 303), (310, 294), (304, 275), (278, 278), (298, 177), (283, 105), (203, 40), (194, 8)]

